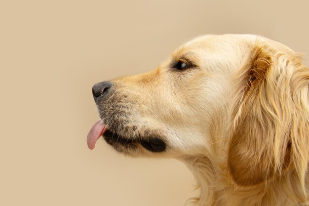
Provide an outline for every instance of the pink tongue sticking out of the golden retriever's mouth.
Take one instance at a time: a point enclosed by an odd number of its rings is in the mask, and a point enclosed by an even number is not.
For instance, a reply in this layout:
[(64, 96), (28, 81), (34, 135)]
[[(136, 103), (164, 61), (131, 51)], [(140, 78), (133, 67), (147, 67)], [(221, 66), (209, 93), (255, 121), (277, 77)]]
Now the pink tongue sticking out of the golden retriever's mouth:
[(107, 126), (102, 123), (101, 120), (97, 120), (93, 126), (91, 127), (88, 135), (87, 135), (87, 145), (90, 150), (92, 150), (95, 146), (95, 143), (99, 139), (99, 137), (106, 131)]

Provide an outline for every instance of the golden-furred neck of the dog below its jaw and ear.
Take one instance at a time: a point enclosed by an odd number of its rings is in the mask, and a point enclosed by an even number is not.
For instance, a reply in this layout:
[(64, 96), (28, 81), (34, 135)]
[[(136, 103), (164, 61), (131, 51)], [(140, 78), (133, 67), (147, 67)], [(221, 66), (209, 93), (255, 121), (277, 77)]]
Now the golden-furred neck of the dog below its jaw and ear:
[[(192, 156), (182, 159), (192, 171), (196, 180), (196, 189), (200, 195), (190, 198), (186, 205), (194, 206), (307, 206), (306, 197), (297, 187), (297, 178), (293, 171), (287, 171), (285, 177), (273, 179), (267, 184), (241, 187), (233, 183), (224, 164), (210, 160), (206, 156)], [(308, 180), (307, 175), (307, 180)], [(284, 197), (282, 198), (282, 194)], [(308, 193), (307, 193), (308, 196)], [(266, 202), (267, 201), (267, 202)]]

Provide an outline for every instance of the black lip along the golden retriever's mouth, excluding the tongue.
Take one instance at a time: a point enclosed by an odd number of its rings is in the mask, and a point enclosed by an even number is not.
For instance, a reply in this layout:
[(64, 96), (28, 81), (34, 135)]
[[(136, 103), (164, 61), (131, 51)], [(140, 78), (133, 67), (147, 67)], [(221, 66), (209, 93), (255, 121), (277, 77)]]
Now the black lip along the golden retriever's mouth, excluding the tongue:
[(145, 149), (151, 152), (163, 152), (166, 149), (165, 142), (157, 137), (140, 137), (139, 140), (132, 140), (124, 138), (109, 129), (104, 132), (103, 137), (105, 141), (112, 146), (116, 146), (116, 144), (128, 146), (140, 143)]

